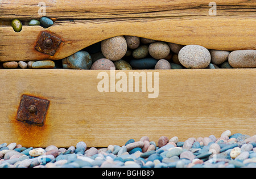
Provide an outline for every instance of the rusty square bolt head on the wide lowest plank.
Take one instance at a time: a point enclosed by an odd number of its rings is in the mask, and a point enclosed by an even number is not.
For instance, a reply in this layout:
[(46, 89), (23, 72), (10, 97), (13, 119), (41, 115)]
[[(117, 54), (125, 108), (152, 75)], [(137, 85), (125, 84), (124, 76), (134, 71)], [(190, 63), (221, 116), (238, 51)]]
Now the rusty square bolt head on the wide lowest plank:
[(16, 119), (29, 124), (44, 125), (49, 100), (22, 95)]

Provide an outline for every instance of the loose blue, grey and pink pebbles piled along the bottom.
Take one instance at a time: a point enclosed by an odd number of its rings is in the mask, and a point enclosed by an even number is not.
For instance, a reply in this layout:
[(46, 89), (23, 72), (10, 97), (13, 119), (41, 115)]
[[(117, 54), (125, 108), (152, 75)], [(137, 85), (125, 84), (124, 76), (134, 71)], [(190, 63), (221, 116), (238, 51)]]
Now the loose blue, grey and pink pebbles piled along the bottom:
[(123, 146), (25, 148), (20, 144), (0, 145), (0, 168), (255, 168), (256, 135), (224, 131), (220, 138), (162, 136), (158, 143), (142, 137), (128, 140)]

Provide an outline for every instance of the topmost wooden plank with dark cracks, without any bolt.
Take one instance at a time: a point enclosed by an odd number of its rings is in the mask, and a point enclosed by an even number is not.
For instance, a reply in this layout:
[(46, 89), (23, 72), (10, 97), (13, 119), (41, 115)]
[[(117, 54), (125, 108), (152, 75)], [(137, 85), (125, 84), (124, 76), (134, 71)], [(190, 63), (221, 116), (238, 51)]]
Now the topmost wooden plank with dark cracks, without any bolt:
[[(41, 18), (40, 1), (36, 0), (2, 0), (1, 15), (2, 20), (19, 18), (20, 20), (30, 20)], [(150, 18), (150, 17), (188, 17), (188, 16), (208, 16), (208, 0), (47, 0), (46, 15), (63, 19), (106, 19), (106, 18)], [(255, 1), (216, 0), (218, 16), (255, 16)], [(42, 2), (41, 2), (42, 3)]]

